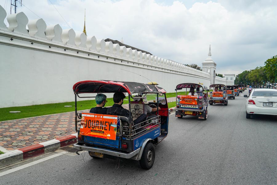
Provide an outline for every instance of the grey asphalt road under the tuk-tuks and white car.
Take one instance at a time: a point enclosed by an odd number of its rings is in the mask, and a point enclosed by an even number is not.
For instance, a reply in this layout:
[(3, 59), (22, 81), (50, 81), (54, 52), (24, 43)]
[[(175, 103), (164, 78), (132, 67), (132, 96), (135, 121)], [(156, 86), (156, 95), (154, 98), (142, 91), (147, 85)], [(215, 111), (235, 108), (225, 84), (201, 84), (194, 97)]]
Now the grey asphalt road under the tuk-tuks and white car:
[[(277, 117), (246, 119), (246, 98), (228, 106), (208, 106), (208, 119), (170, 116), (169, 134), (156, 149), (154, 166), (143, 170), (138, 161), (93, 159), (61, 154), (6, 175), (31, 161), (0, 170), (0, 184), (277, 184)], [(81, 152), (80, 152), (81, 153)]]

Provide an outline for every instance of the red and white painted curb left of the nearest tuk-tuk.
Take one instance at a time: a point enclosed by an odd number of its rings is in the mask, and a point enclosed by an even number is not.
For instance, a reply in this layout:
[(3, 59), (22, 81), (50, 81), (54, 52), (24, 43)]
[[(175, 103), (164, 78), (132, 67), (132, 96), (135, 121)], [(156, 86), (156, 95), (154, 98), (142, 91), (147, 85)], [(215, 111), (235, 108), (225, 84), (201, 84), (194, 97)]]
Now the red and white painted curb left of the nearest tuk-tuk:
[(47, 152), (53, 152), (61, 147), (72, 145), (77, 142), (77, 133), (62, 136), (50, 141), (26, 146), (18, 150), (12, 150), (0, 155), (0, 167), (22, 161), (27, 158), (35, 157)]

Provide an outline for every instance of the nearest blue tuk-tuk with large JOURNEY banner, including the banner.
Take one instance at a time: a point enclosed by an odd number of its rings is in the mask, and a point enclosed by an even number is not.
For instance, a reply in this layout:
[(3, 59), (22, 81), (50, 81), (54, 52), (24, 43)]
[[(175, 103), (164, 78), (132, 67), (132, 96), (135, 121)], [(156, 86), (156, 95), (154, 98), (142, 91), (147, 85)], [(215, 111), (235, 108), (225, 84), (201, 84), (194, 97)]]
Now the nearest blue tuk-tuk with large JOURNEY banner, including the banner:
[[(109, 80), (87, 80), (74, 84), (75, 130), (78, 143), (74, 148), (89, 151), (92, 158), (127, 158), (139, 160), (143, 169), (155, 161), (155, 147), (168, 134), (169, 111), (166, 91), (151, 84)], [(128, 95), (129, 117), (77, 113), (77, 97), (93, 98), (98, 93), (122, 92)], [(90, 95), (82, 95), (88, 94)], [(137, 96), (134, 96), (137, 95)], [(131, 101), (138, 99), (138, 101)], [(142, 101), (143, 100), (143, 101)], [(147, 114), (147, 119), (135, 124), (144, 113), (144, 105), (160, 107)], [(81, 122), (81, 119), (84, 122)], [(78, 123), (82, 124), (78, 124)]]

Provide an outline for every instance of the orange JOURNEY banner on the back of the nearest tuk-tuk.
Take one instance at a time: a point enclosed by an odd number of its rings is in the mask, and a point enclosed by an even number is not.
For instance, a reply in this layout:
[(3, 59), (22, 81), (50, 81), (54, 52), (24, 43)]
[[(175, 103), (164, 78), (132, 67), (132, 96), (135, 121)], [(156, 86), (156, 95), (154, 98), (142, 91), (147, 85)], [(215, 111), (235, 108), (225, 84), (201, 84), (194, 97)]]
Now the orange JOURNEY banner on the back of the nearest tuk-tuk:
[(80, 135), (92, 136), (104, 139), (116, 139), (117, 124), (119, 117), (114, 115), (82, 113)]

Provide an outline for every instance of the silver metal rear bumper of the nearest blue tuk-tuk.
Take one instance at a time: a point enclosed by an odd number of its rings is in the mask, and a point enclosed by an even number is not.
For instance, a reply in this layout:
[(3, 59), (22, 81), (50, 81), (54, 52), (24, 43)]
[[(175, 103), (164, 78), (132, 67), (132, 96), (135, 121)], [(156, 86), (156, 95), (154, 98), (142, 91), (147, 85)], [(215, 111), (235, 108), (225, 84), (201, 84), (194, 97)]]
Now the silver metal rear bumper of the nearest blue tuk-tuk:
[(126, 153), (123, 153), (120, 151), (113, 151), (113, 150), (109, 150), (109, 149), (97, 148), (97, 147), (92, 147), (92, 146), (83, 146), (83, 144), (79, 145), (78, 143), (74, 144), (73, 146), (75, 149), (79, 149), (79, 150), (98, 152), (98, 153), (112, 155), (112, 156), (126, 158), (126, 159), (130, 159), (130, 158), (133, 158), (134, 156), (138, 155), (139, 150), (140, 150), (140, 148), (138, 148), (137, 150), (134, 150), (133, 152), (126, 154)]

